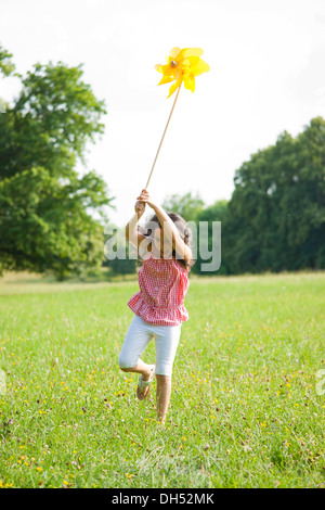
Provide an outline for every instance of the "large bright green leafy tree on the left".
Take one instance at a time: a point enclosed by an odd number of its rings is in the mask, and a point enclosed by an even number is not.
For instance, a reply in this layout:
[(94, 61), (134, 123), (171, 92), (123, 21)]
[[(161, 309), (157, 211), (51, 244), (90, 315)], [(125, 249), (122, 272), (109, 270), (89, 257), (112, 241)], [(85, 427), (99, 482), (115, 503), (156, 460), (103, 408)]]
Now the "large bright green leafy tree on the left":
[[(5, 75), (13, 69), (9, 58), (0, 49)], [(106, 114), (81, 79), (82, 65), (37, 63), (0, 114), (2, 271), (51, 270), (63, 279), (99, 270), (104, 259), (102, 221), (113, 197), (94, 170), (75, 169), (78, 158), (86, 165), (87, 142), (103, 133)]]

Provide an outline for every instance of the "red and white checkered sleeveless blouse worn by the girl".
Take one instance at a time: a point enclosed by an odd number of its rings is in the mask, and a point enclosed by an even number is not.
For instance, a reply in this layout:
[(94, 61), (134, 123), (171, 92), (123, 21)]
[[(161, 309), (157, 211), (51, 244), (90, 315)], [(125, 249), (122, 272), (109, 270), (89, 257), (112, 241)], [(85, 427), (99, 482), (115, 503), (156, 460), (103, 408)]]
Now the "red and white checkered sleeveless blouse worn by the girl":
[(176, 259), (144, 257), (138, 272), (140, 291), (128, 306), (145, 322), (177, 326), (188, 319), (184, 297), (190, 286), (187, 270)]

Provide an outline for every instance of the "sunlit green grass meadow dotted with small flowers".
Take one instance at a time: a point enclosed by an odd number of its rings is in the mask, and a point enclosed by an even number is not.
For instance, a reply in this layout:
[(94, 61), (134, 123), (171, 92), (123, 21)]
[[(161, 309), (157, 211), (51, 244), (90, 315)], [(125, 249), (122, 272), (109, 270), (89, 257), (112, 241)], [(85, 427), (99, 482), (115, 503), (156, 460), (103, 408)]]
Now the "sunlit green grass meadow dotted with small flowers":
[(0, 284), (0, 486), (324, 487), (325, 273), (191, 278), (165, 426), (117, 367), (136, 291)]

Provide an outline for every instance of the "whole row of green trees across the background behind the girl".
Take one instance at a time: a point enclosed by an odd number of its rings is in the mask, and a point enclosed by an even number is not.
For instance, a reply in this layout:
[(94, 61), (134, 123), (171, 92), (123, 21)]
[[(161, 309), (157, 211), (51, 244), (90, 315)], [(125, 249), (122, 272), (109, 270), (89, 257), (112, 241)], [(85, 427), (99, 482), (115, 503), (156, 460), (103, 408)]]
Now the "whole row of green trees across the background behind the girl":
[[(135, 272), (135, 260), (104, 256), (114, 204), (106, 182), (94, 169), (76, 170), (78, 161), (86, 166), (87, 143), (104, 132), (105, 102), (82, 80), (82, 64), (37, 63), (22, 76), (12, 56), (0, 46), (0, 77), (21, 80), (12, 105), (0, 98), (1, 273), (51, 271), (63, 280), (102, 266)], [(167, 196), (162, 206), (197, 226), (207, 221), (210, 247), (212, 222), (221, 221), (214, 273), (324, 269), (325, 120), (311, 119), (297, 137), (284, 131), (251, 154), (235, 171), (229, 201), (207, 205), (188, 192)], [(211, 275), (200, 263), (198, 253), (193, 271)]]

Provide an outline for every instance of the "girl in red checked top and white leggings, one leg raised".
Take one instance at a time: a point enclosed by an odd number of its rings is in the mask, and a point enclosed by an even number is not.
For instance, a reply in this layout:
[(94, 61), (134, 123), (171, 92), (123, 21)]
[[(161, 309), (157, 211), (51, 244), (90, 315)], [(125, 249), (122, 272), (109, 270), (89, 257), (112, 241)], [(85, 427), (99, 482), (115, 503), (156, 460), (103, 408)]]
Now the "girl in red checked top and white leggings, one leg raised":
[[(155, 215), (150, 220), (150, 228), (140, 233), (138, 222), (145, 204)], [(138, 196), (134, 208), (135, 214), (126, 227), (126, 238), (138, 248), (139, 255), (141, 243), (147, 247), (138, 273), (140, 291), (128, 302), (135, 316), (121, 347), (118, 366), (125, 372), (140, 373), (136, 388), (140, 400), (148, 395), (156, 377), (157, 419), (164, 424), (181, 324), (188, 319), (184, 297), (194, 260), (188, 245), (190, 229), (181, 216), (166, 213), (152, 201), (146, 190)], [(147, 365), (140, 356), (152, 337), (156, 340), (156, 364)]]

